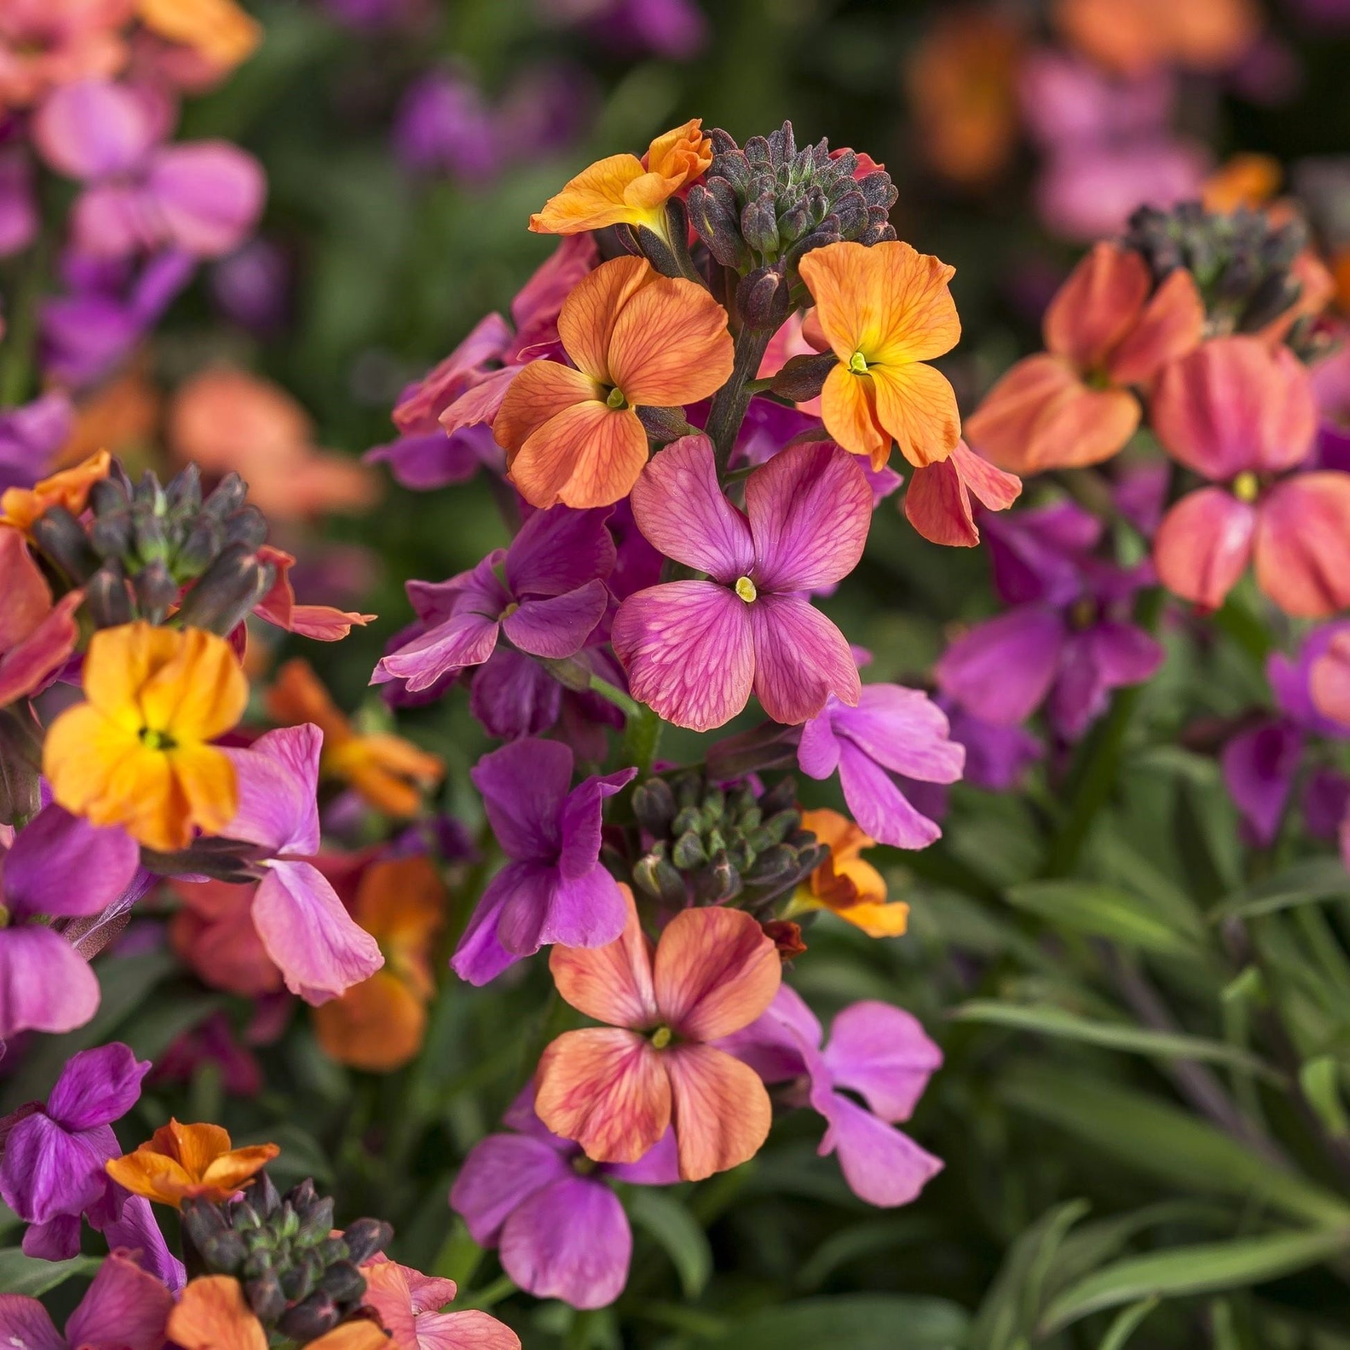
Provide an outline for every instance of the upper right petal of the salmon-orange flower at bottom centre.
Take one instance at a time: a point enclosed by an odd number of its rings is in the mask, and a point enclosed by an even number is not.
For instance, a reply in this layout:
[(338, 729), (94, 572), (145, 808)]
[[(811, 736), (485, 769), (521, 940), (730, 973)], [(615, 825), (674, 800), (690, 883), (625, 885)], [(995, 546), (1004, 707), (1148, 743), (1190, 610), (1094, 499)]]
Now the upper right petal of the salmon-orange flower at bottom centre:
[(749, 1026), (782, 981), (771, 938), (744, 910), (682, 910), (656, 948), (662, 1018), (691, 1041), (716, 1041)]

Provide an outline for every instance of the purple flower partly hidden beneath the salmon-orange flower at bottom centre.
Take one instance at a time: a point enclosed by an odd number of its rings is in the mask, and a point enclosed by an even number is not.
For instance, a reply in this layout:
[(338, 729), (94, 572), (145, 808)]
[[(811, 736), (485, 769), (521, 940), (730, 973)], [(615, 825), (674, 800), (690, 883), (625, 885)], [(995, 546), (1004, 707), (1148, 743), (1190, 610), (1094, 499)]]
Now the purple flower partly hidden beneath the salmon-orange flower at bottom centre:
[(579, 1145), (549, 1133), (526, 1088), (506, 1112), (516, 1134), (475, 1143), (450, 1192), (451, 1207), (483, 1247), (501, 1247), (502, 1269), (536, 1299), (603, 1308), (628, 1281), (633, 1234), (606, 1177), (633, 1185), (679, 1181), (667, 1130), (637, 1162), (587, 1166)]

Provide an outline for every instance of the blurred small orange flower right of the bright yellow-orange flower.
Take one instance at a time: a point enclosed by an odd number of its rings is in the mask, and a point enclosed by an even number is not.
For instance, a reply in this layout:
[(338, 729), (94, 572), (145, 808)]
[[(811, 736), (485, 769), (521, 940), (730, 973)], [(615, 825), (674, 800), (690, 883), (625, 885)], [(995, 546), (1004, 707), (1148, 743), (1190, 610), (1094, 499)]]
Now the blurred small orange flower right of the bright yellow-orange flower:
[(313, 722), (324, 733), (320, 767), (350, 783), (387, 815), (416, 815), (423, 791), (435, 787), (446, 765), (401, 736), (359, 734), (319, 683), (309, 662), (296, 657), (277, 671), (267, 693), (267, 716), (282, 726)]

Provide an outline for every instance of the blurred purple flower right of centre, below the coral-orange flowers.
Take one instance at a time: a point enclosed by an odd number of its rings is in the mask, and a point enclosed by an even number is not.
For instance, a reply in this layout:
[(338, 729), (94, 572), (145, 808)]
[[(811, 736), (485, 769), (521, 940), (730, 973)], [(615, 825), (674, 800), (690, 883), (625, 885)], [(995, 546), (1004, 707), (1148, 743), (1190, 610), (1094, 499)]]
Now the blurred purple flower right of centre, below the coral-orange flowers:
[(1152, 571), (1094, 558), (1102, 522), (1071, 502), (990, 518), (986, 529), (995, 587), (1014, 608), (946, 649), (938, 687), (996, 726), (1046, 703), (1054, 730), (1077, 740), (1112, 688), (1146, 680), (1162, 662), (1162, 648), (1129, 618)]

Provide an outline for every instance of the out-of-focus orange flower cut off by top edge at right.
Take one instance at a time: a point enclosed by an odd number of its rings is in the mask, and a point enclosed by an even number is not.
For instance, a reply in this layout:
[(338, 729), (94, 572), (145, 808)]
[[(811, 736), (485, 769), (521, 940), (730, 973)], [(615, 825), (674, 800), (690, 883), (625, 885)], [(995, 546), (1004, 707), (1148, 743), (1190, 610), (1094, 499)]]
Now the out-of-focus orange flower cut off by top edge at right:
[(1254, 0), (1057, 0), (1054, 20), (1087, 57), (1125, 74), (1223, 70), (1261, 30)]

